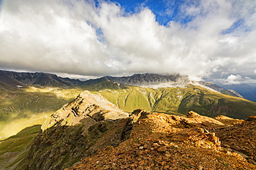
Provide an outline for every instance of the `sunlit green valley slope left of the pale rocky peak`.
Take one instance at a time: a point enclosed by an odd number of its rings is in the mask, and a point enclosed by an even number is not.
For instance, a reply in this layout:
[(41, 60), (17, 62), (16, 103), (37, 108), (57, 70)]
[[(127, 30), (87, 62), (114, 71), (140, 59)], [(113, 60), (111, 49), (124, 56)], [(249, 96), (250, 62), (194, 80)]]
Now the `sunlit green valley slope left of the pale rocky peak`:
[(79, 89), (27, 87), (1, 90), (0, 139), (21, 129), (44, 123), (54, 111), (80, 94)]

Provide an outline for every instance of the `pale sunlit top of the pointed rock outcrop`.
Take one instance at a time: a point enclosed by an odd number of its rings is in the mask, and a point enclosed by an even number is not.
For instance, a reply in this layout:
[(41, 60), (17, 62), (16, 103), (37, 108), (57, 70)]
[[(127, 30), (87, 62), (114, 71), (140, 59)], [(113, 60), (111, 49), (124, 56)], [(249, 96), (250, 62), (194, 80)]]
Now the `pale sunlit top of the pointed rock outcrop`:
[(113, 103), (110, 103), (101, 94), (91, 94), (85, 90), (71, 103), (64, 105), (56, 111), (51, 118), (42, 125), (42, 130), (46, 130), (56, 123), (62, 122), (62, 125), (77, 125), (84, 118), (93, 120), (127, 118), (129, 114), (125, 113)]

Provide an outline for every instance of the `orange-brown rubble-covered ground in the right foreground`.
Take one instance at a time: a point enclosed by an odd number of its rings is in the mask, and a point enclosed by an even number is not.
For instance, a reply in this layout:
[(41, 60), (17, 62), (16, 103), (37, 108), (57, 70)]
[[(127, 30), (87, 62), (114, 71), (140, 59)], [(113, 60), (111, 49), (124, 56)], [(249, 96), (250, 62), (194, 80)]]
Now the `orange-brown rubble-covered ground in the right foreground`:
[[(95, 152), (75, 169), (256, 169), (256, 118), (216, 119), (134, 111), (130, 138)], [(129, 123), (129, 121), (127, 121)]]

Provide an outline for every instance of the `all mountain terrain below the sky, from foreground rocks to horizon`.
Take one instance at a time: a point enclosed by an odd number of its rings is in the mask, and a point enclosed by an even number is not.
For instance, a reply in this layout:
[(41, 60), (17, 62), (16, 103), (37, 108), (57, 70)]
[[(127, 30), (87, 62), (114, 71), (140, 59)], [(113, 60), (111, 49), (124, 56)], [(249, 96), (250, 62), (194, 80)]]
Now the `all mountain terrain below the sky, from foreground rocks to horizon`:
[(214, 83), (180, 74), (0, 76), (0, 169), (255, 168), (256, 103)]

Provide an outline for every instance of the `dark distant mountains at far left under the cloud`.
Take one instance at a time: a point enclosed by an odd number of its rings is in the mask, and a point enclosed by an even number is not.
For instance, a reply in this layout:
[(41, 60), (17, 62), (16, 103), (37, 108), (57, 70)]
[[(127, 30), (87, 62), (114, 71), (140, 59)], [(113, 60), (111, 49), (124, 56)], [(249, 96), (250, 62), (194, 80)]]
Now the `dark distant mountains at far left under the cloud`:
[(82, 81), (71, 78), (62, 78), (55, 74), (42, 72), (8, 72), (0, 70), (0, 82), (16, 87), (17, 85), (40, 85), (51, 87), (69, 87), (80, 85)]

